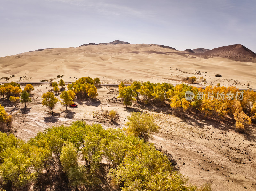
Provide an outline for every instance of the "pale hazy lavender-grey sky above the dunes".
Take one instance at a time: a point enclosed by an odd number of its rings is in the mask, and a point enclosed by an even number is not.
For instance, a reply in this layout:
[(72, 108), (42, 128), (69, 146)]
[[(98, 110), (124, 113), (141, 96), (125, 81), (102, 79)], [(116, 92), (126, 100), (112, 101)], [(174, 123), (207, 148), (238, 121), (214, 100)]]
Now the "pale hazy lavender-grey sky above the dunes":
[(256, 52), (255, 0), (0, 0), (0, 57), (123, 40)]

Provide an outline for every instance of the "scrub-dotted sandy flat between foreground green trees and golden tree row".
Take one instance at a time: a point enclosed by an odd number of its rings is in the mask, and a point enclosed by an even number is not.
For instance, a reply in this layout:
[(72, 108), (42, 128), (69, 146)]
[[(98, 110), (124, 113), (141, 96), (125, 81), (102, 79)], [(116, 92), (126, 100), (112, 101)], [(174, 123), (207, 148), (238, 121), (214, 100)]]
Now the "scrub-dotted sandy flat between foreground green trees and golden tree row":
[[(14, 117), (14, 134), (23, 140), (29, 140), (48, 127), (69, 125), (75, 120), (100, 123), (104, 128), (122, 128), (130, 112), (148, 112), (154, 114), (161, 127), (151, 142), (169, 155), (174, 168), (188, 176), (190, 183), (201, 185), (207, 181), (212, 183), (214, 191), (256, 190), (255, 124), (247, 127), (244, 133), (237, 133), (230, 121), (219, 123), (193, 113), (180, 119), (172, 115), (167, 104), (157, 107), (134, 102), (126, 109), (116, 99), (115, 87), (100, 87), (97, 99), (76, 100), (78, 108), (69, 107), (68, 111), (58, 103), (52, 116), (49, 109), (41, 105), (42, 93), (51, 87), (48, 84), (34, 87), (27, 109), (23, 104), (14, 108), (8, 100), (0, 99), (5, 110)], [(105, 111), (112, 109), (119, 114), (116, 123), (104, 117)]]

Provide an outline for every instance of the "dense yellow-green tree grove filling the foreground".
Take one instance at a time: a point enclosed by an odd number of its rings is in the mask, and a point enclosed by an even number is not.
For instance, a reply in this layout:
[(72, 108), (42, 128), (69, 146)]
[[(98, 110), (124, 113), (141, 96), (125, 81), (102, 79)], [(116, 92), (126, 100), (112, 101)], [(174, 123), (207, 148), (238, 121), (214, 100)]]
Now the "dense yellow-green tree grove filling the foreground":
[[(80, 156), (85, 162), (78, 160)], [(153, 144), (125, 136), (120, 129), (83, 121), (47, 128), (26, 143), (13, 134), (0, 133), (1, 186), (28, 190), (33, 183), (34, 187), (52, 187), (51, 181), (58, 180), (58, 189), (90, 190), (101, 184), (98, 169), (103, 157), (113, 186), (121, 190), (200, 190), (187, 185), (188, 178), (174, 171)]]

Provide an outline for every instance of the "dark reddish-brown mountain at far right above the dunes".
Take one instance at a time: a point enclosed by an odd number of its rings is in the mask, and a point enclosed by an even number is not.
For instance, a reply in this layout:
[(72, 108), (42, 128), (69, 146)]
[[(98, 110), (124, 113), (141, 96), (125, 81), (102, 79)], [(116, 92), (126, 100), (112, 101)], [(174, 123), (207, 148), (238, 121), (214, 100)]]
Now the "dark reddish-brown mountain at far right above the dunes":
[(193, 55), (203, 58), (222, 57), (240, 62), (256, 62), (256, 54), (241, 44), (218, 47), (204, 53), (195, 53)]

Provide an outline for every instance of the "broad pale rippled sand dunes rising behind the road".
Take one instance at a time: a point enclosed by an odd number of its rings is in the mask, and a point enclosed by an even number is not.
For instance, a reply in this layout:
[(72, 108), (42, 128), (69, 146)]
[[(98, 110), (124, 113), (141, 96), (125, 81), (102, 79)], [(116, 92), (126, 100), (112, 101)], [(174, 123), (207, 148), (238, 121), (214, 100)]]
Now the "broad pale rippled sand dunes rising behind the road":
[[(198, 72), (200, 71), (200, 73)], [(0, 58), (0, 78), (9, 81), (40, 81), (63, 75), (64, 81), (99, 77), (102, 82), (121, 80), (171, 82), (187, 76), (203, 76), (206, 84), (256, 88), (256, 63), (226, 58), (199, 58), (169, 48), (146, 44), (97, 45), (55, 48)], [(215, 77), (221, 74), (222, 77)], [(21, 77), (21, 78), (20, 78)], [(3, 80), (0, 80), (3, 81)], [(203, 82), (199, 82), (203, 84)], [(198, 84), (198, 85), (199, 85)]]

